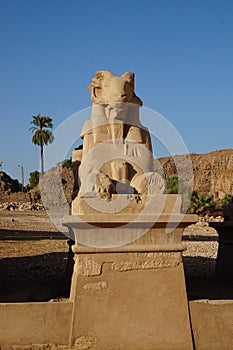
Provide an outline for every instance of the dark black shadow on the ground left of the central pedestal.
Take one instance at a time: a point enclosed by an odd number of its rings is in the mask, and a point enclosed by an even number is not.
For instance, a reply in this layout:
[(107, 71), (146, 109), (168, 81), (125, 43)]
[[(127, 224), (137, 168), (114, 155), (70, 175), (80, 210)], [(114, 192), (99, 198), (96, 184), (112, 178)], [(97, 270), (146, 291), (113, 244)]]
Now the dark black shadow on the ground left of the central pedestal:
[(0, 302), (69, 297), (73, 259), (68, 253), (0, 260)]

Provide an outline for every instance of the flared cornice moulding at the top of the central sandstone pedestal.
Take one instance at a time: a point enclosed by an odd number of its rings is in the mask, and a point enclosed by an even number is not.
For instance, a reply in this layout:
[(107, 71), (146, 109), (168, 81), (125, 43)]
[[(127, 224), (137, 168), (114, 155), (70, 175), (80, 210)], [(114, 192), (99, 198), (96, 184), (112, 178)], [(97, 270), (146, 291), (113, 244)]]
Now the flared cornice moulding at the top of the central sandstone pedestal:
[[(69, 215), (65, 224), (77, 252), (108, 251), (182, 251), (185, 227), (197, 221), (196, 215)], [(93, 247), (93, 248), (92, 248)]]

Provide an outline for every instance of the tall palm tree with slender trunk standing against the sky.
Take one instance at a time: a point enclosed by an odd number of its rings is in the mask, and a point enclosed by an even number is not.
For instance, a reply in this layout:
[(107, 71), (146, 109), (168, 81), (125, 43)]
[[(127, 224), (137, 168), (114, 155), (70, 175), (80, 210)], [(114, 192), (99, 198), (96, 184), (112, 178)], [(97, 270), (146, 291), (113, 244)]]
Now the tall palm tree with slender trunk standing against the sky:
[(52, 143), (54, 140), (53, 133), (48, 130), (53, 128), (52, 118), (49, 116), (42, 116), (40, 113), (32, 117), (31, 121), (32, 126), (31, 130), (33, 134), (32, 143), (40, 146), (40, 161), (41, 161), (41, 174), (44, 173), (44, 146), (47, 146), (49, 143)]

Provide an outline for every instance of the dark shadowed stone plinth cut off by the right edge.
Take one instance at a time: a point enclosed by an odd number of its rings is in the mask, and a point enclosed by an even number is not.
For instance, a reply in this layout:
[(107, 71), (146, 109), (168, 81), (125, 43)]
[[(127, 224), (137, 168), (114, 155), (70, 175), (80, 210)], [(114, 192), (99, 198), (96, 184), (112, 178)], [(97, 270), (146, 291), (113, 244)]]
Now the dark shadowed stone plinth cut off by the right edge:
[(210, 222), (219, 235), (216, 274), (233, 278), (233, 221)]

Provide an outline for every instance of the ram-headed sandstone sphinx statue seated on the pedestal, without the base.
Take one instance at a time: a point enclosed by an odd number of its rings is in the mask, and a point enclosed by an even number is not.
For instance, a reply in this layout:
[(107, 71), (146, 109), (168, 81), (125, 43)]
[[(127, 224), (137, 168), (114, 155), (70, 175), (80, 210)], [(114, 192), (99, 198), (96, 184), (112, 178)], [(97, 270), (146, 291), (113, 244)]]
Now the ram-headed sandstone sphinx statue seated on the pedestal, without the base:
[(150, 134), (139, 120), (142, 101), (134, 92), (134, 73), (114, 76), (99, 71), (89, 91), (92, 115), (81, 133), (81, 186), (73, 201), (73, 214), (80, 198), (111, 201), (113, 194), (163, 193), (164, 181), (153, 169)]

